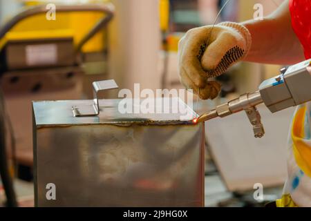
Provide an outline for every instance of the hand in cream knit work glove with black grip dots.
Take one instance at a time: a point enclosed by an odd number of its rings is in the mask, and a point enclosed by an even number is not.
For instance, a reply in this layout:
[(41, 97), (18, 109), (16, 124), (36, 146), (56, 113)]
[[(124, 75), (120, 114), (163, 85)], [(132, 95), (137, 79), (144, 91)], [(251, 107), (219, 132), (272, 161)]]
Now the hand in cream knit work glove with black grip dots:
[[(211, 35), (209, 35), (211, 33)], [(180, 81), (201, 99), (214, 99), (221, 86), (208, 79), (223, 74), (247, 55), (252, 37), (240, 23), (223, 22), (214, 28), (203, 26), (189, 30), (178, 44)]]

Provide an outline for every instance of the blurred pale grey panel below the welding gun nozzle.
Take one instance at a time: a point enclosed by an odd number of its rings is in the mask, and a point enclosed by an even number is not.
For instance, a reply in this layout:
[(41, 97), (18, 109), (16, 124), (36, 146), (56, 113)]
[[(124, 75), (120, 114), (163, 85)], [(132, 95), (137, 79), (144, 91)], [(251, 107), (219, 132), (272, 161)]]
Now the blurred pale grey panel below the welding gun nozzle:
[(281, 185), (287, 174), (288, 131), (294, 108), (270, 113), (260, 106), (265, 136), (254, 138), (245, 113), (206, 122), (207, 142), (230, 191)]

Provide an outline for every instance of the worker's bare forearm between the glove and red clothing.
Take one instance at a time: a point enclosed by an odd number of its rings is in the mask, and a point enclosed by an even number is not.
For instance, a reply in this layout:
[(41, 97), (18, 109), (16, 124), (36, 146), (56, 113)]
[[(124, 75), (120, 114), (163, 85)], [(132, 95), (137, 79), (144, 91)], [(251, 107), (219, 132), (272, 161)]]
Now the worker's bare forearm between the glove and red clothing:
[(267, 64), (294, 64), (302, 61), (303, 48), (292, 30), (288, 1), (259, 21), (245, 21), (252, 35), (252, 46), (245, 61)]

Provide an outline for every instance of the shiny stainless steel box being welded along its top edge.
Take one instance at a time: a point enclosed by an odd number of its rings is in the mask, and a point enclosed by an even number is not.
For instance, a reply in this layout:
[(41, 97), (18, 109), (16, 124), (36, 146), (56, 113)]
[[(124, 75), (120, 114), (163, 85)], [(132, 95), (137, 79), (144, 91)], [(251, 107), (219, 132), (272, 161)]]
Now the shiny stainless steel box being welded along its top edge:
[(100, 99), (93, 117), (72, 111), (92, 100), (32, 103), (36, 206), (204, 205), (204, 124), (121, 114), (120, 100)]

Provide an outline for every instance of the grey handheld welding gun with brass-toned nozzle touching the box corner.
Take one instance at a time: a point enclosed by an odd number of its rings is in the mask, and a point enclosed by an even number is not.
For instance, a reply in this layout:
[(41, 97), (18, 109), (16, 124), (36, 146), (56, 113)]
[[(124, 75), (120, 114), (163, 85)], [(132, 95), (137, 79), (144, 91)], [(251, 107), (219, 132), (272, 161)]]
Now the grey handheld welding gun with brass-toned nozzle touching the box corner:
[(246, 93), (217, 106), (198, 117), (196, 122), (245, 111), (255, 137), (263, 137), (265, 130), (261, 123), (261, 115), (256, 108), (258, 104), (265, 104), (272, 113), (275, 113), (311, 100), (311, 59), (282, 68), (280, 72), (278, 76), (263, 81), (256, 92)]

